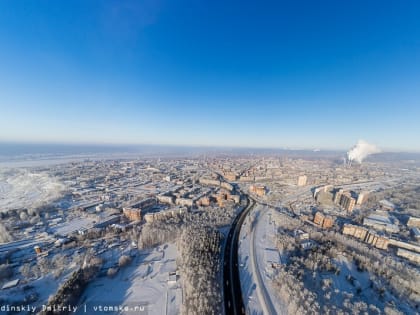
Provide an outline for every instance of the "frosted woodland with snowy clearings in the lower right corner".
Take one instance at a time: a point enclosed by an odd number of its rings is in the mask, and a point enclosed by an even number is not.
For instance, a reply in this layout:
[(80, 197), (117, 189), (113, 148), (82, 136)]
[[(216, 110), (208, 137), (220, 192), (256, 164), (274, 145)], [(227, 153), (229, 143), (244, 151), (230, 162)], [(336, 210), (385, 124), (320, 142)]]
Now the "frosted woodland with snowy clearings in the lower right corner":
[[(277, 246), (287, 259), (280, 266), (274, 284), (289, 312), (398, 314), (419, 308), (418, 269), (355, 239), (302, 225), (294, 218), (282, 216), (276, 223), (279, 226)], [(316, 241), (316, 247), (302, 250), (293, 236), (296, 229), (308, 232)], [(335, 287), (332, 279), (341, 272), (339, 261), (343, 255), (354, 262), (360, 272), (369, 272), (370, 287), (362, 288), (351, 269), (346, 271), (350, 273), (345, 279), (353, 290), (346, 292)], [(363, 293), (365, 289), (369, 291), (367, 294)], [(392, 295), (401, 301), (400, 305), (386, 305)], [(367, 300), (367, 296), (371, 298)]]

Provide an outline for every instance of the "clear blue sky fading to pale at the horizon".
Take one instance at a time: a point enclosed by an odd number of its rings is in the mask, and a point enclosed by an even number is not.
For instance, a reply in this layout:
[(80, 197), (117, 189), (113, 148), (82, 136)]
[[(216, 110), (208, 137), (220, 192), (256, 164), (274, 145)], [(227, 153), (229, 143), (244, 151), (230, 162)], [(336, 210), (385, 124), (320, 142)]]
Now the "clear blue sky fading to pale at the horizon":
[(0, 141), (420, 151), (419, 1), (0, 1)]

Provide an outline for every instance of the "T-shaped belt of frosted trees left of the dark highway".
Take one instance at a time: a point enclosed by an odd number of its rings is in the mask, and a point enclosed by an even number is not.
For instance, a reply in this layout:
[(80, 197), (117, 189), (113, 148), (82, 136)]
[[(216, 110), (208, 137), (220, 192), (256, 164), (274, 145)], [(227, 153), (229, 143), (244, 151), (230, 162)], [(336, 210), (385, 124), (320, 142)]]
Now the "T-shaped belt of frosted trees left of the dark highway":
[(183, 314), (221, 314), (219, 284), (222, 234), (218, 227), (230, 224), (236, 209), (206, 207), (172, 218), (146, 223), (132, 230), (141, 249), (177, 240), (178, 265), (182, 275)]

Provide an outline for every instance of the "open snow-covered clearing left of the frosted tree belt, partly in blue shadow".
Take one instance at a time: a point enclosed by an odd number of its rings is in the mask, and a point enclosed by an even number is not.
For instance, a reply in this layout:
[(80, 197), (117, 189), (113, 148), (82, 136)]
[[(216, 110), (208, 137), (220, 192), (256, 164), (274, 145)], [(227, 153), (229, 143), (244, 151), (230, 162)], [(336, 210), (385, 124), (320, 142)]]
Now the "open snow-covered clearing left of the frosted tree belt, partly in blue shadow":
[(79, 314), (86, 314), (85, 305), (87, 311), (94, 306), (112, 305), (145, 307), (147, 314), (179, 314), (181, 283), (179, 276), (170, 276), (177, 270), (176, 256), (176, 245), (171, 243), (140, 251), (114, 278), (102, 276), (89, 284), (80, 299)]

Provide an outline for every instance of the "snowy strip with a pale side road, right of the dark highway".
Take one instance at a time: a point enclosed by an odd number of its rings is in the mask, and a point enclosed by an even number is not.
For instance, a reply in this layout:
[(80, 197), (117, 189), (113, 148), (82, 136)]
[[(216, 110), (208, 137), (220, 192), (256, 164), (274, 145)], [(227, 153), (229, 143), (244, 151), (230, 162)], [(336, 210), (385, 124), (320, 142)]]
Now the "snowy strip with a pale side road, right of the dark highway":
[(271, 285), (275, 272), (272, 263), (281, 263), (274, 243), (275, 227), (270, 220), (273, 212), (257, 206), (245, 220), (240, 233), (241, 288), (245, 308), (250, 314), (287, 313)]

